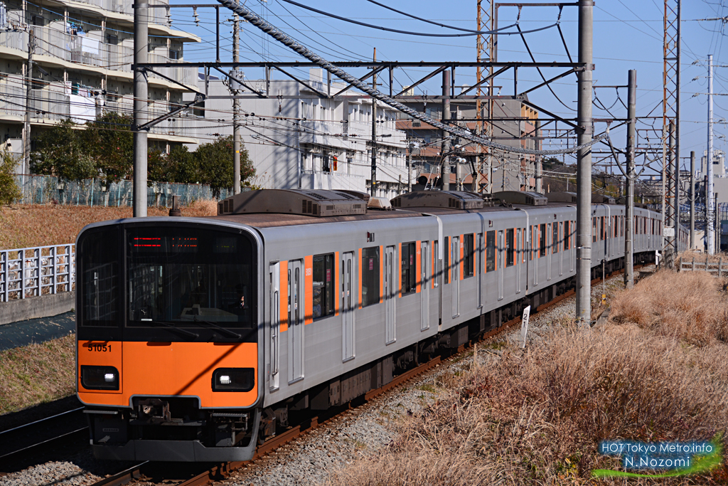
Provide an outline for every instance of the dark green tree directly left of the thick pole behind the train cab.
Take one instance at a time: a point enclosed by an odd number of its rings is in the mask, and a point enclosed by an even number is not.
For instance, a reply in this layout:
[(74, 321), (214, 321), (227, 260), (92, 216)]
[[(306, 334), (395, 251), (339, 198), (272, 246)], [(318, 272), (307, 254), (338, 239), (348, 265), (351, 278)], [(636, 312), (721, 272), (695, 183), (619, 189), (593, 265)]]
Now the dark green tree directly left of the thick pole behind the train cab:
[(106, 181), (119, 181), (131, 176), (134, 166), (134, 134), (129, 128), (132, 117), (109, 111), (79, 135), (82, 146), (92, 157)]

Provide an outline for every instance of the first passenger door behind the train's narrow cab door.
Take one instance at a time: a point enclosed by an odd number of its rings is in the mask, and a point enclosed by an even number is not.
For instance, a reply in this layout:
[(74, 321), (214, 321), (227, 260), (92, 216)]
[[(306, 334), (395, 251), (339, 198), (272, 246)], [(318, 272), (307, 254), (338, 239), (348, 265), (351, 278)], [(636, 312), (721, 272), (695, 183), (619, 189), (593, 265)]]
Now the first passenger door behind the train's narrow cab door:
[(304, 377), (304, 262), (288, 262), (288, 383)]

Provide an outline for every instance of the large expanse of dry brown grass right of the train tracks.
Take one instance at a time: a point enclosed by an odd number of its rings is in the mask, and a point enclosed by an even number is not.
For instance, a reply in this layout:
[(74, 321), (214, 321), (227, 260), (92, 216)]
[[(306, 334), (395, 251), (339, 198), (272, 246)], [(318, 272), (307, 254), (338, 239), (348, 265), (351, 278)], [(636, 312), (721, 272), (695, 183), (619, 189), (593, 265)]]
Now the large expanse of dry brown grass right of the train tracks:
[(562, 325), (526, 350), (480, 353), (438, 401), (331, 485), (728, 484), (728, 469), (593, 479), (603, 439), (711, 439), (728, 427), (728, 299), (705, 273), (663, 271), (618, 293), (602, 330)]

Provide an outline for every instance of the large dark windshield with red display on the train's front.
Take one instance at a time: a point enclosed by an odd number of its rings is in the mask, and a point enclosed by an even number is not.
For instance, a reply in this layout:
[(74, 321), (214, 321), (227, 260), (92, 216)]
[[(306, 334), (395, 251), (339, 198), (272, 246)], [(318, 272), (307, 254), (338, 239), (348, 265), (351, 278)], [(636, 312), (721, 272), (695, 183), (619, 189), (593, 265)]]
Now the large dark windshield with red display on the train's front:
[(243, 235), (201, 227), (126, 232), (127, 326), (253, 328), (256, 276)]

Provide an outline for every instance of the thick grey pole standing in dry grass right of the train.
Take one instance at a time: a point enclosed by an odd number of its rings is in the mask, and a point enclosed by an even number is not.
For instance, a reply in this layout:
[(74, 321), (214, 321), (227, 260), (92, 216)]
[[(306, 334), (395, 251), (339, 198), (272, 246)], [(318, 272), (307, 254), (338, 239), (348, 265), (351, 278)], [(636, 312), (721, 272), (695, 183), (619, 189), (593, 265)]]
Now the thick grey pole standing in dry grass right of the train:
[[(592, 141), (593, 0), (579, 0), (577, 144)], [(577, 152), (577, 321), (591, 321), (591, 146)]]

